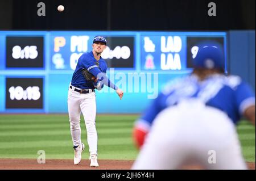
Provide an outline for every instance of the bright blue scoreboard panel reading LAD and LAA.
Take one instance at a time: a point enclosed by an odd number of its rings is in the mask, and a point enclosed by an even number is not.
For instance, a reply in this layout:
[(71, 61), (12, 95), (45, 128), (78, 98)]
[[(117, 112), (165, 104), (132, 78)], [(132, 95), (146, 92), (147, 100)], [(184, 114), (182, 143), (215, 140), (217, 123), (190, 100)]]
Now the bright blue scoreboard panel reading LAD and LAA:
[(186, 36), (142, 36), (142, 70), (184, 70)]

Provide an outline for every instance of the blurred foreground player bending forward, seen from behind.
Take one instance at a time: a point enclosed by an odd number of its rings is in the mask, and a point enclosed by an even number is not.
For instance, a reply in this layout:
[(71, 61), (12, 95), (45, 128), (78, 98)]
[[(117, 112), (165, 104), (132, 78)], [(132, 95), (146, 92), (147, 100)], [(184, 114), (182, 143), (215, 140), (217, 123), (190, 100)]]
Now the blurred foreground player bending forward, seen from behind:
[(135, 124), (142, 147), (132, 169), (246, 169), (235, 125), (241, 116), (255, 125), (255, 95), (223, 63), (220, 45), (199, 46), (192, 74), (167, 85)]

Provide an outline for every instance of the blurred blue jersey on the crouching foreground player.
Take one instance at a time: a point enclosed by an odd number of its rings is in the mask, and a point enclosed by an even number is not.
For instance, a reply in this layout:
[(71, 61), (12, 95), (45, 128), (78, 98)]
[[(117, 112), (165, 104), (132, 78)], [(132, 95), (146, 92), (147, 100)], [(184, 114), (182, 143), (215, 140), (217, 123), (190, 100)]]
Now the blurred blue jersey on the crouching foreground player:
[(238, 76), (217, 74), (199, 81), (198, 77), (192, 74), (168, 83), (158, 98), (144, 111), (137, 124), (149, 129), (160, 111), (189, 98), (200, 99), (207, 106), (225, 112), (234, 124), (241, 119), (246, 108), (255, 105), (253, 90)]

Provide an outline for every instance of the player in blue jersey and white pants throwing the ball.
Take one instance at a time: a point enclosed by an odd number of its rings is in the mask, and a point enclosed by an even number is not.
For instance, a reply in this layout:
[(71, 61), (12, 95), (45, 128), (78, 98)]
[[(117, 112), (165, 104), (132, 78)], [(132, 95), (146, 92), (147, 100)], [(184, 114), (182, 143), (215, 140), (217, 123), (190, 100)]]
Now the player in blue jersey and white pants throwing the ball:
[(87, 141), (90, 151), (90, 167), (98, 167), (97, 162), (97, 132), (96, 132), (96, 94), (94, 89), (101, 90), (104, 85), (114, 89), (122, 99), (123, 91), (118, 89), (106, 77), (106, 62), (101, 53), (106, 48), (106, 39), (96, 36), (93, 39), (92, 52), (81, 55), (73, 73), (68, 90), (68, 114), (75, 152), (74, 164), (81, 162), (81, 153), (85, 146), (81, 142), (80, 115), (84, 115)]

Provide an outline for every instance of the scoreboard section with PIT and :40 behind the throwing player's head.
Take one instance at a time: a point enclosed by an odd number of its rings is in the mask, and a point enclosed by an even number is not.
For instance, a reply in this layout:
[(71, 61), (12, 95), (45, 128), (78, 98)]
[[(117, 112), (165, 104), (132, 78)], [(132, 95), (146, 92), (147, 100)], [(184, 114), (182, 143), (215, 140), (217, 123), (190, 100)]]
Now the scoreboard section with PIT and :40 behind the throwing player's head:
[[(92, 51), (90, 35), (51, 36), (51, 69), (75, 70), (81, 54)], [(134, 37), (106, 36), (106, 49), (101, 57), (109, 68), (134, 68)]]

